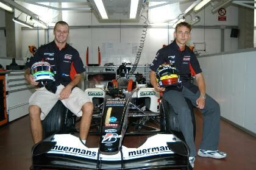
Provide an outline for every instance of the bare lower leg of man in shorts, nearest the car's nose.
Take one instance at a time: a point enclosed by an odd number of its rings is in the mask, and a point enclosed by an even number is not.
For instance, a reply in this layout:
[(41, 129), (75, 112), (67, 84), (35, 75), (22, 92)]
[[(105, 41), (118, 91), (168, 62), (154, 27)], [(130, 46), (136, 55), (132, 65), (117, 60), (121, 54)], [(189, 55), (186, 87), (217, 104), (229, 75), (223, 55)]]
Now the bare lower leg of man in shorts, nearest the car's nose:
[(91, 117), (93, 115), (93, 103), (86, 102), (82, 106), (82, 112), (83, 115), (80, 121), (80, 138), (81, 140), (86, 140), (91, 126)]

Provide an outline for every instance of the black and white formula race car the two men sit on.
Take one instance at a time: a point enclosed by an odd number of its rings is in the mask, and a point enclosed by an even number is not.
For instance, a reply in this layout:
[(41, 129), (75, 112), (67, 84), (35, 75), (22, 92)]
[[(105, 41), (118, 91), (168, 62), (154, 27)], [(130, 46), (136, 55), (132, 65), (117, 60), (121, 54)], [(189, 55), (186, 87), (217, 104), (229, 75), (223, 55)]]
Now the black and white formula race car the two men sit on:
[[(31, 169), (192, 169), (176, 115), (154, 88), (121, 77), (85, 93), (94, 104), (96, 147), (80, 141), (79, 121), (59, 101), (43, 121), (46, 137), (32, 148)], [(192, 107), (191, 115), (194, 124)], [(125, 146), (129, 136), (145, 141)]]

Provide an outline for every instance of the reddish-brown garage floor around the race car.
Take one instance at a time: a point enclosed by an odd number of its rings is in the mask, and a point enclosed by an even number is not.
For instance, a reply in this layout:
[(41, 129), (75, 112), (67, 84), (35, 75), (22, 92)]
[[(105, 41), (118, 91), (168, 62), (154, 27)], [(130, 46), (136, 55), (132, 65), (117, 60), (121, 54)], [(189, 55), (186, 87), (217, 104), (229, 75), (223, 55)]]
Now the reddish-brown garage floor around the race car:
[[(196, 147), (202, 138), (202, 116), (196, 113)], [(88, 144), (95, 142), (95, 136), (88, 136)], [(133, 138), (132, 142), (141, 143)], [(127, 141), (124, 141), (129, 143)], [(33, 146), (29, 130), (29, 116), (24, 116), (6, 126), (0, 127), (0, 169), (27, 170), (31, 164), (30, 151)], [(222, 160), (196, 157), (194, 170), (254, 170), (256, 169), (256, 138), (240, 129), (221, 121), (219, 150), (227, 152)]]

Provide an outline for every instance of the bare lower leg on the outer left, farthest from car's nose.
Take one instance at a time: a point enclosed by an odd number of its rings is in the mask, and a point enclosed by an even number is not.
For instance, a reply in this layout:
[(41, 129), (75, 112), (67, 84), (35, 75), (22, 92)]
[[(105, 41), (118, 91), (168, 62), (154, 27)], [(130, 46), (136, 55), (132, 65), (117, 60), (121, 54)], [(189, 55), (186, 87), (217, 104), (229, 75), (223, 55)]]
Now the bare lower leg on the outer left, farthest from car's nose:
[(29, 106), (30, 130), (34, 143), (38, 143), (43, 138), (43, 129), (40, 119), (41, 109), (37, 105)]

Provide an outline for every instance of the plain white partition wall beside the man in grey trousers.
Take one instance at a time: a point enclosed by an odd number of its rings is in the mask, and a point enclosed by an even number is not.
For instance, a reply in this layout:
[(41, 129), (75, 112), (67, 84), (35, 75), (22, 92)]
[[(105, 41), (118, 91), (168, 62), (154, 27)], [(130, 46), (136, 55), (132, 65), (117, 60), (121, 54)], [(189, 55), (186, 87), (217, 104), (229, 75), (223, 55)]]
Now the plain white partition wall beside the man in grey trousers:
[(256, 48), (199, 57), (206, 92), (221, 105), (221, 116), (256, 133)]

